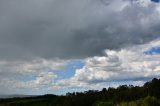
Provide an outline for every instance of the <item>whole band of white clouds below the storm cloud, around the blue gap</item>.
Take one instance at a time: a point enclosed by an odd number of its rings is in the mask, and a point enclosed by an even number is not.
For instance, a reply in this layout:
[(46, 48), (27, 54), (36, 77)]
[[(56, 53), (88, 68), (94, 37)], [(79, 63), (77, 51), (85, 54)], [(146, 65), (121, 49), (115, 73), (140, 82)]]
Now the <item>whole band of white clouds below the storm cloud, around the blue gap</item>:
[(65, 69), (69, 60), (0, 61), (0, 88), (1, 91), (41, 88), (69, 88), (70, 91), (117, 87), (119, 84), (142, 85), (146, 80), (160, 76), (160, 54), (145, 54), (159, 46), (160, 39), (157, 39), (120, 50), (105, 50), (104, 56), (84, 59), (83, 68), (76, 69), (67, 79), (57, 79), (60, 76), (55, 70)]

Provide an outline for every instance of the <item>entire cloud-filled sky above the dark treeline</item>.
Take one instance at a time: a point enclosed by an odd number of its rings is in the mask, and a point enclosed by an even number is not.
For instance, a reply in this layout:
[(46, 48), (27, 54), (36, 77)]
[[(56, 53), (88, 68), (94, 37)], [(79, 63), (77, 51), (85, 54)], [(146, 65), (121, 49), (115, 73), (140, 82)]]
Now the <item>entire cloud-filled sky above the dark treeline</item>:
[(160, 77), (157, 0), (0, 0), (0, 94), (65, 94)]

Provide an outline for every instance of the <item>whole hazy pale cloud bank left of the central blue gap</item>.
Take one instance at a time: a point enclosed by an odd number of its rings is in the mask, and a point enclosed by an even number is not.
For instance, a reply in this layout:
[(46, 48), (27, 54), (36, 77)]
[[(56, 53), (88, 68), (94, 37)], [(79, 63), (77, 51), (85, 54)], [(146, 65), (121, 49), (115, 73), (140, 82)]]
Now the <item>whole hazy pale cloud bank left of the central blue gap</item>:
[(64, 70), (68, 61), (45, 60), (8, 62), (0, 61), (0, 93), (20, 90), (47, 89), (59, 77), (56, 70)]

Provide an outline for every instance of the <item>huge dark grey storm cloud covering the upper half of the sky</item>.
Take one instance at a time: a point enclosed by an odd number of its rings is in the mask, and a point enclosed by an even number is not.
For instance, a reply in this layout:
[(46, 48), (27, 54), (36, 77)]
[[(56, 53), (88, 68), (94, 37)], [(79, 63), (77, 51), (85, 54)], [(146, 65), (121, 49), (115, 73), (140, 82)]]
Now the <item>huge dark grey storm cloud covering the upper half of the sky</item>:
[(112, 2), (1, 0), (0, 59), (82, 58), (159, 36), (154, 4)]

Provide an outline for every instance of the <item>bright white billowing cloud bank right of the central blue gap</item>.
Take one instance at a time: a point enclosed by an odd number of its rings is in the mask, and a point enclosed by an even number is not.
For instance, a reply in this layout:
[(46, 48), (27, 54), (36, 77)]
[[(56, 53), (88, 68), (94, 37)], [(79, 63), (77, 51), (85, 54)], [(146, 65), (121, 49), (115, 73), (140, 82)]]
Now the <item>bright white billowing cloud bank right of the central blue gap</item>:
[(144, 53), (144, 51), (159, 45), (160, 40), (154, 40), (147, 44), (122, 48), (117, 51), (105, 50), (104, 56), (86, 58), (83, 68), (77, 69), (73, 77), (60, 80), (58, 84), (61, 87), (71, 88), (94, 88), (95, 85), (99, 85), (101, 88), (100, 85), (104, 85), (104, 83), (124, 83), (126, 81), (130, 81), (130, 84), (136, 82), (142, 84), (146, 80), (160, 76), (160, 55)]

